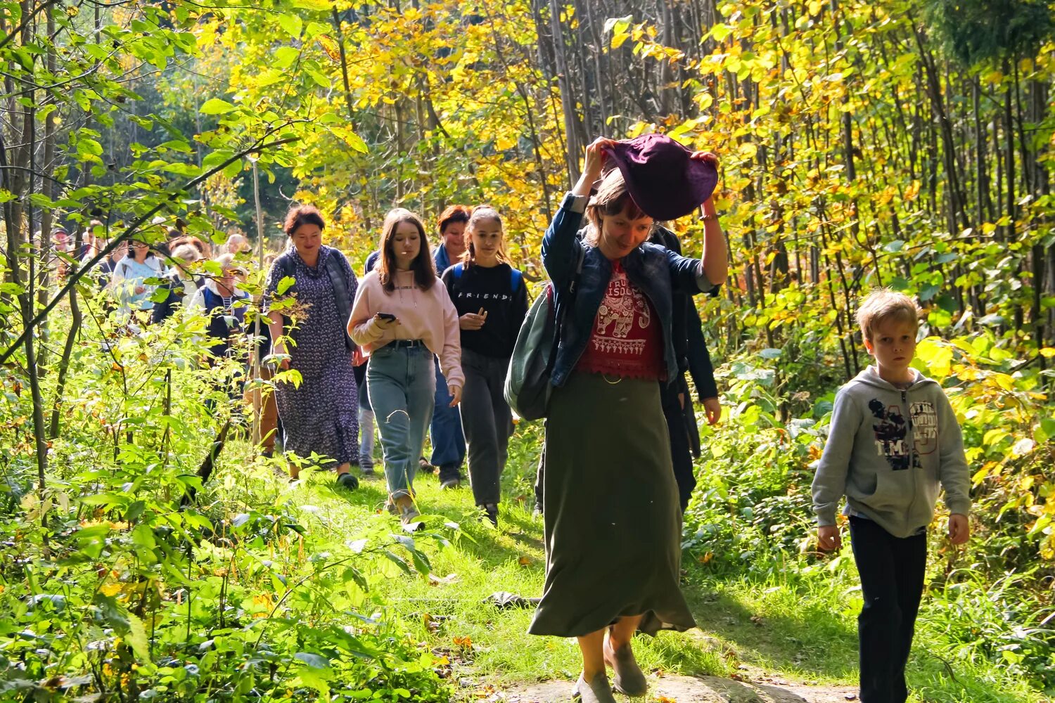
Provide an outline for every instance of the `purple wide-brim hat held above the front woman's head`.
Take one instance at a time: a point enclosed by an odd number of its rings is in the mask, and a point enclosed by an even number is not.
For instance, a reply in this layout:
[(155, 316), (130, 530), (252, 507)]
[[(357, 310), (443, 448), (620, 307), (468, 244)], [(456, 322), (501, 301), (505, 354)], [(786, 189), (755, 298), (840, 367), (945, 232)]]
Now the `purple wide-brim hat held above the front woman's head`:
[(622, 173), (627, 192), (652, 219), (677, 219), (711, 197), (718, 172), (663, 134), (622, 139), (605, 150)]

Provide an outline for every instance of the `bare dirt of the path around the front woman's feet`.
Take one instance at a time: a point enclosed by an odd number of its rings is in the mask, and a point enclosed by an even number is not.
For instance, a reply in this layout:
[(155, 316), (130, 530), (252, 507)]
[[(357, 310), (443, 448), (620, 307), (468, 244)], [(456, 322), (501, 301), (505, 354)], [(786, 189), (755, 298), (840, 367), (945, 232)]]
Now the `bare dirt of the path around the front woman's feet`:
[[(504, 689), (484, 686), (464, 700), (556, 703), (571, 701), (572, 685), (569, 681), (546, 681)], [(857, 701), (857, 687), (793, 683), (762, 671), (750, 672), (742, 681), (668, 673), (649, 676), (649, 694), (645, 698), (616, 698), (641, 703), (845, 703)]]

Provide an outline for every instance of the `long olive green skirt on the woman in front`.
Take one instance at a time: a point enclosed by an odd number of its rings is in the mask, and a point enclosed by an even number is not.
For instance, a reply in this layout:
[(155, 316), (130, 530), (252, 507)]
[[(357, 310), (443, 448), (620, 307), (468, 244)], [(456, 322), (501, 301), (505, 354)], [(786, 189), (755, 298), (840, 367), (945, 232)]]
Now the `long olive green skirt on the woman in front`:
[(545, 587), (532, 634), (580, 637), (622, 616), (695, 622), (678, 587), (682, 513), (659, 385), (575, 372), (545, 423)]

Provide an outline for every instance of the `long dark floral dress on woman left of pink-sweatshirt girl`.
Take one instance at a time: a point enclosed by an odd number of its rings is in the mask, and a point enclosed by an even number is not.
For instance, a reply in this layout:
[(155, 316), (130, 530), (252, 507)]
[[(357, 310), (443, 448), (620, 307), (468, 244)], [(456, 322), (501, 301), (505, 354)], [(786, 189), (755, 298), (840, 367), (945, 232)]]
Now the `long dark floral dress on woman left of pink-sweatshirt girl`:
[[(347, 319), (338, 312), (333, 285), (326, 273), (326, 259), (338, 256), (347, 279), (348, 299), (356, 298), (358, 281), (348, 260), (339, 250), (320, 247), (319, 261), (309, 267), (290, 247), (294, 263), (298, 327), (289, 336), (289, 367), (301, 372), (300, 387), (279, 384), (275, 403), (285, 429), (285, 450), (298, 456), (311, 452), (328, 456), (338, 465), (359, 462), (359, 397), (345, 346)], [(267, 294), (273, 296), (284, 277), (276, 261), (268, 272)], [(332, 465), (329, 465), (332, 467)]]

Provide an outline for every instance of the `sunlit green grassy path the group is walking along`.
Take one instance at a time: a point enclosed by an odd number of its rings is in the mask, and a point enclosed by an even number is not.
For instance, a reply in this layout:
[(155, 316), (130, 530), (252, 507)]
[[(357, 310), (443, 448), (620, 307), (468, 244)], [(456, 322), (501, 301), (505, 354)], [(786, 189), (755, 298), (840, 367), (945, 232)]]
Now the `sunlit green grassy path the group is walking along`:
[[(529, 428), (514, 444), (498, 529), (481, 520), (467, 485), (441, 491), (435, 476), (419, 475), (415, 485), (421, 510), (437, 516), (429, 525), (439, 527), (450, 545), (426, 548), (431, 564), (427, 579), (407, 577), (385, 563), (367, 574), (373, 586), (362, 611), (373, 608), (398, 619), (410, 637), (445, 657), (444, 673), (456, 700), (570, 700), (578, 676), (574, 640), (530, 637), (530, 607), (499, 608), (487, 602), (498, 591), (532, 598), (542, 588), (542, 521), (532, 514), (531, 492), (535, 430)], [(331, 473), (311, 471), (288, 491), (310, 529), (348, 541), (379, 527), (400, 531), (398, 521), (382, 509), (386, 492), (380, 474), (345, 491), (334, 487)], [(459, 528), (440, 527), (444, 522)], [(718, 579), (695, 562), (684, 567), (683, 588), (699, 628), (635, 640), (635, 653), (652, 682), (649, 697), (638, 700), (855, 700), (849, 697), (856, 694), (857, 678), (856, 584), (818, 580), (813, 589), (791, 588), (779, 580)], [(984, 669), (978, 676), (968, 669), (964, 681), (958, 665), (959, 679), (953, 681), (945, 663), (926, 650), (925, 643), (918, 646), (910, 664), (919, 696), (910, 700), (1047, 700), (1029, 695), (1025, 687), (994, 688), (982, 682)]]

